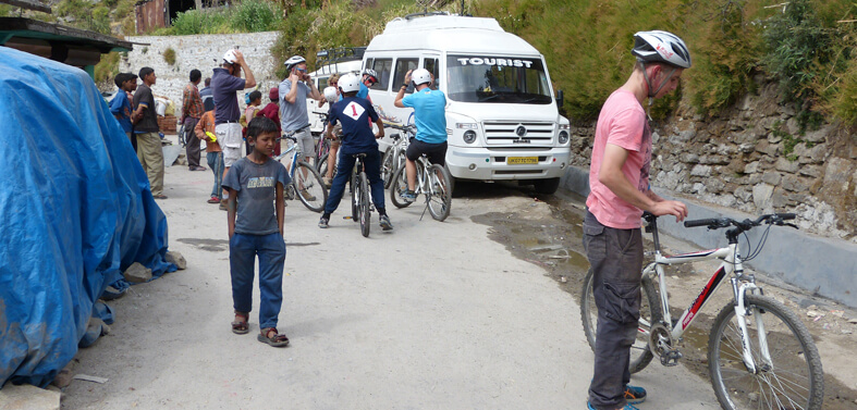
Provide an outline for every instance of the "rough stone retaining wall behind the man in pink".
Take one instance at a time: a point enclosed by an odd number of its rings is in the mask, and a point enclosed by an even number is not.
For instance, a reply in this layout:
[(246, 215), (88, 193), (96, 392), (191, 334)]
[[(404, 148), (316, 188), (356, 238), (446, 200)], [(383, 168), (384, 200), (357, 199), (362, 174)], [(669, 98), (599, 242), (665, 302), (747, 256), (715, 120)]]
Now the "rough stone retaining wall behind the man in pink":
[[(795, 212), (801, 229), (857, 244), (857, 135), (836, 124), (801, 132), (776, 85), (719, 117), (681, 107), (652, 122), (651, 184), (749, 214)], [(573, 132), (573, 164), (588, 167), (593, 126)]]

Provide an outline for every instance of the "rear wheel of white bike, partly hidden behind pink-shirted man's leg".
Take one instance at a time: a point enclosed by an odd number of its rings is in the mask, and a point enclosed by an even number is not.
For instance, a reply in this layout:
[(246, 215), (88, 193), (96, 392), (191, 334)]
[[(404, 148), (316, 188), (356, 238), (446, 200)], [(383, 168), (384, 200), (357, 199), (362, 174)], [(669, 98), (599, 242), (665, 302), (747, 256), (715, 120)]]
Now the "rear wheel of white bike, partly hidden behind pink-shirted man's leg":
[[(598, 332), (598, 307), (596, 307), (592, 271), (586, 274), (584, 278), (583, 294), (580, 295), (580, 322), (584, 324), (584, 334), (586, 341), (592, 351), (596, 350), (596, 334)], [(640, 283), (640, 320), (637, 326), (637, 338), (630, 346), (630, 360), (628, 362), (628, 370), (632, 373), (637, 373), (651, 362), (654, 357), (649, 350), (649, 331), (653, 323), (658, 323), (663, 319), (661, 313), (661, 301), (658, 298), (658, 291), (654, 289), (654, 283), (648, 276), (644, 277)]]

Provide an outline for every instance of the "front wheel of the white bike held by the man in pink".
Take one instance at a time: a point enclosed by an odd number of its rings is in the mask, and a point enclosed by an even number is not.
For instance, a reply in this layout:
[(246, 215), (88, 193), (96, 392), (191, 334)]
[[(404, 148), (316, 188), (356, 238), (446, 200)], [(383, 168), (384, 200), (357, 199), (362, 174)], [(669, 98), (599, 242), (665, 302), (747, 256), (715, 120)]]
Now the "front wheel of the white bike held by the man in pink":
[[(745, 305), (755, 373), (744, 363), (734, 303), (723, 308), (709, 336), (708, 369), (720, 406), (727, 410), (821, 409), (824, 372), (807, 327), (771, 297), (746, 295)], [(763, 355), (766, 347), (769, 355)]]

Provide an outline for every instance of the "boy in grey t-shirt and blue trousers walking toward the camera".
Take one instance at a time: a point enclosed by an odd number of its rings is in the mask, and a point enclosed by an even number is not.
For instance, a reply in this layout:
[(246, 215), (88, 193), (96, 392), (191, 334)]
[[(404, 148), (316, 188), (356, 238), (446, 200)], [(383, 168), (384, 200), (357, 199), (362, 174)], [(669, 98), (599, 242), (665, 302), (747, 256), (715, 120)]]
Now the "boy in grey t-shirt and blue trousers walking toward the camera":
[(261, 333), (257, 338), (276, 347), (289, 345), (285, 334), (277, 331), (285, 262), (283, 189), (291, 183), (285, 166), (270, 158), (279, 136), (277, 124), (270, 119), (259, 116), (250, 121), (247, 141), (254, 146), (253, 152), (236, 161), (223, 178), (230, 198), (237, 198), (228, 203), (229, 264), (235, 309), (232, 332), (249, 332), (253, 265), (258, 254)]

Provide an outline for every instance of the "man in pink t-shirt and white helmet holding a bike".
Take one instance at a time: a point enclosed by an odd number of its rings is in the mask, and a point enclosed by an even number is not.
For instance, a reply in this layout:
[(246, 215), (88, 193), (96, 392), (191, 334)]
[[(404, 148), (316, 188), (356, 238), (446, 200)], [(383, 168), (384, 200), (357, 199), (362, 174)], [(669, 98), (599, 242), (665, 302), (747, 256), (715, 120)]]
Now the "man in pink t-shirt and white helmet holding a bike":
[(628, 385), (628, 358), (636, 339), (642, 270), (642, 211), (687, 216), (687, 207), (649, 187), (651, 131), (642, 103), (672, 92), (690, 67), (687, 46), (666, 32), (634, 35), (637, 58), (627, 82), (601, 108), (589, 169), (584, 248), (593, 272), (598, 307), (590, 410), (636, 409), (646, 390)]

